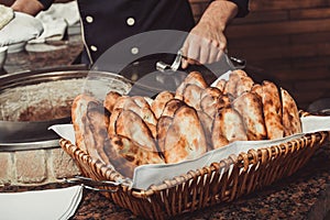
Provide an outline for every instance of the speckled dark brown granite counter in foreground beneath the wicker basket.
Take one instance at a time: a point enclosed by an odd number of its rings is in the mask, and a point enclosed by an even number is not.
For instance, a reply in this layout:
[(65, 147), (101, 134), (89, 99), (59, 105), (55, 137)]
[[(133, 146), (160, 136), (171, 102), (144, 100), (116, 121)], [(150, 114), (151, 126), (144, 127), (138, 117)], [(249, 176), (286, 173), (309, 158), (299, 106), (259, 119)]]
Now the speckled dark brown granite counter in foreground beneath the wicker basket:
[[(216, 205), (175, 219), (329, 219), (330, 210), (330, 144), (328, 143), (293, 176), (272, 186), (239, 198), (230, 204)], [(68, 187), (51, 184), (37, 187), (4, 186), (0, 191), (26, 191)], [(101, 193), (84, 189), (84, 198), (72, 218), (82, 219), (140, 219)]]

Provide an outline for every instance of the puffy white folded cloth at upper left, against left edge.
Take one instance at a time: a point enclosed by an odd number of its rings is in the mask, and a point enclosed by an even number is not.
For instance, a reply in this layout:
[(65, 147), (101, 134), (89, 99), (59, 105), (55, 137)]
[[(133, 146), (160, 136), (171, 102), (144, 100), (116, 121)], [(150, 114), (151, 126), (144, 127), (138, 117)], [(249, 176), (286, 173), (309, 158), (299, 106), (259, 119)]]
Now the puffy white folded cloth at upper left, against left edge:
[(36, 38), (42, 34), (43, 30), (40, 20), (26, 13), (14, 12), (14, 19), (0, 30), (0, 46)]

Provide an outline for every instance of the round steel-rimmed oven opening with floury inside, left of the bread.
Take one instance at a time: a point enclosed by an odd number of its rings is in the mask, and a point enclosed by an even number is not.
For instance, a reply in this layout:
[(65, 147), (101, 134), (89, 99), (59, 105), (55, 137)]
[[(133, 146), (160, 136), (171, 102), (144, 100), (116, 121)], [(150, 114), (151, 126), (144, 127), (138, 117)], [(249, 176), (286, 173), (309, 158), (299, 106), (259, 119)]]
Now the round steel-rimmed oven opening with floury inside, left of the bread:
[[(74, 67), (72, 67), (74, 68)], [(118, 84), (114, 85), (114, 81)], [(48, 131), (54, 124), (69, 123), (70, 114), (41, 121), (19, 121), (20, 110), (33, 103), (67, 105), (81, 92), (89, 92), (98, 99), (114, 89), (128, 92), (131, 82), (125, 78), (106, 72), (86, 69), (38, 69), (0, 76), (0, 151), (3, 148), (40, 148), (58, 145), (58, 136)], [(32, 112), (33, 113), (33, 112)], [(12, 114), (12, 116), (8, 116)], [(11, 118), (12, 117), (12, 118)]]

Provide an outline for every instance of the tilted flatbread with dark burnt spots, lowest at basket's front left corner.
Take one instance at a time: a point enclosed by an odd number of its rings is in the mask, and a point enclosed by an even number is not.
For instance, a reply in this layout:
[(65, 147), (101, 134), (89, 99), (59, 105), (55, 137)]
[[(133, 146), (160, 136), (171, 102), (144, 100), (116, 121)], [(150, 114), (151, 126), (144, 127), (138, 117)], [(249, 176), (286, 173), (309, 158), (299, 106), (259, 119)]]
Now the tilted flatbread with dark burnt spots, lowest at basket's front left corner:
[(143, 164), (164, 164), (158, 152), (122, 136), (112, 135), (105, 145), (105, 152), (117, 172), (133, 178), (134, 168)]

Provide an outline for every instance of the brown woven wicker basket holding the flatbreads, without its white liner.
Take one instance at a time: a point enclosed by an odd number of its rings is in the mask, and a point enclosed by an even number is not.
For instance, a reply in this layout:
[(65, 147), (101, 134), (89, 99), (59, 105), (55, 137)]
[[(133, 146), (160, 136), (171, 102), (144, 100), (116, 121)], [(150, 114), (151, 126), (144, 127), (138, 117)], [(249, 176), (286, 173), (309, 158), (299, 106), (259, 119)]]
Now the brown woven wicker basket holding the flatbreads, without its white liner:
[[(279, 145), (250, 150), (210, 166), (190, 170), (147, 190), (125, 185), (105, 187), (105, 193), (117, 205), (147, 219), (167, 219), (215, 204), (229, 202), (243, 195), (290, 176), (308, 162), (327, 141), (330, 132), (306, 134)], [(61, 146), (76, 161), (84, 175), (95, 180), (116, 182), (120, 174), (92, 160), (69, 141)], [(229, 168), (231, 167), (231, 168)], [(220, 173), (224, 168), (226, 172)]]

